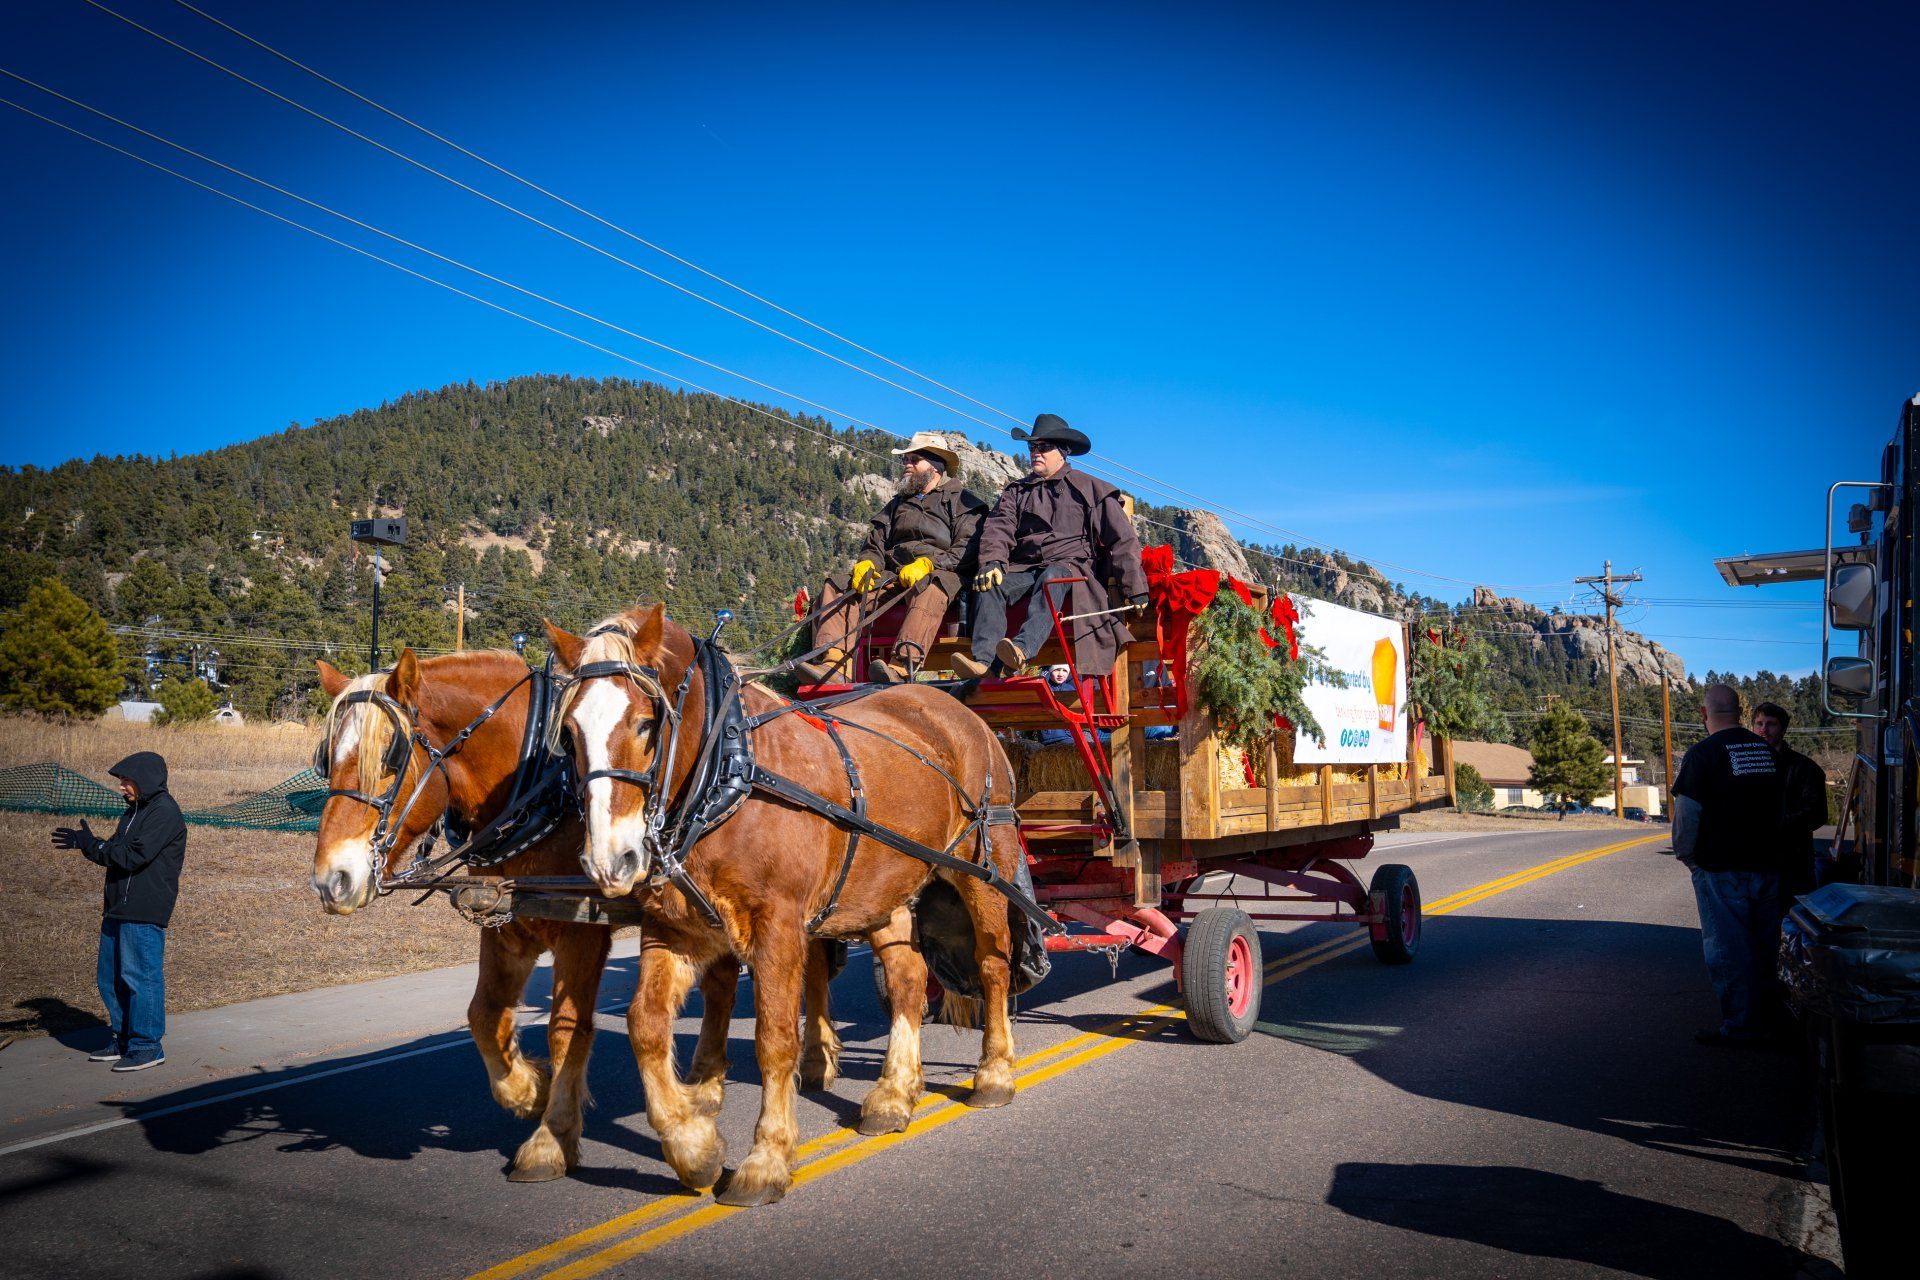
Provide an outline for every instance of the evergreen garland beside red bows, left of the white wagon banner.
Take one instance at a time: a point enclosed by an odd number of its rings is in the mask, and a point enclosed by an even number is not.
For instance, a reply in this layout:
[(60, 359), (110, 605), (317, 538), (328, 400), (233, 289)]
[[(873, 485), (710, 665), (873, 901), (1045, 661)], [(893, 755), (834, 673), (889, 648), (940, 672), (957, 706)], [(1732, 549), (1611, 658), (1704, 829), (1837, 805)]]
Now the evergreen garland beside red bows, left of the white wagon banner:
[(1187, 664), (1192, 699), (1213, 714), (1219, 741), (1246, 752), (1265, 750), (1275, 716), (1294, 725), (1296, 739), (1309, 733), (1325, 741), (1302, 693), (1315, 674), (1340, 689), (1346, 677), (1327, 668), (1319, 649), (1300, 645), (1296, 662), (1284, 637), (1269, 647), (1260, 639), (1261, 626), (1263, 618), (1231, 587), (1219, 589), (1194, 620), (1194, 656)]

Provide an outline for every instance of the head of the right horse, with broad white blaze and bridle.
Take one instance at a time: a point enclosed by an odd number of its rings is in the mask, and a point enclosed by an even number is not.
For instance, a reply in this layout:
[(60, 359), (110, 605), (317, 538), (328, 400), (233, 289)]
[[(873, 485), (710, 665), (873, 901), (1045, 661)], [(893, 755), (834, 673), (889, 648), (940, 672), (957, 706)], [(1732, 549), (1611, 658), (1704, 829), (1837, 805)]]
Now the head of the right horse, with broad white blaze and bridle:
[(666, 768), (693, 641), (666, 620), (664, 604), (614, 614), (584, 637), (549, 622), (547, 639), (566, 679), (553, 718), (555, 747), (572, 750), (584, 787), (588, 844), (580, 865), (601, 892), (620, 896), (651, 871), (647, 819), (676, 781), (660, 775), (687, 764), (682, 750)]

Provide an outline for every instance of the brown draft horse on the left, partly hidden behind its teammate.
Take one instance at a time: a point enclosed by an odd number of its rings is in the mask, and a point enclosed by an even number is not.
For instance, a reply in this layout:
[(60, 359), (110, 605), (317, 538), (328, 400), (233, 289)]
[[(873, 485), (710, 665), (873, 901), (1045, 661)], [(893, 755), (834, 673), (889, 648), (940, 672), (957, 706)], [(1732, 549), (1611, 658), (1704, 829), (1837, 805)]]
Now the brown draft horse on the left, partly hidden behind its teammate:
[[(326, 720), (328, 785), (357, 789), (367, 796), (382, 796), (392, 789), (397, 796), (396, 829), (382, 854), (374, 850), (380, 821), (376, 808), (332, 796), (321, 814), (313, 890), (324, 910), (348, 915), (376, 898), (376, 873), (396, 875), (442, 814), (451, 812), (470, 831), (499, 814), (520, 764), (532, 689), (524, 681), (526, 664), (511, 652), (493, 651), (422, 662), (409, 649), (392, 672), (359, 679), (348, 679), (326, 662), (319, 662), (319, 672), (323, 687), (334, 699)], [(380, 693), (411, 723), (396, 723), (367, 702), (342, 704), (340, 699), (349, 693)], [(428, 770), (426, 750), (417, 741), (396, 748), (397, 727), (403, 735), (419, 731), (436, 750), (445, 750), (461, 729), (499, 699), (505, 700), (497, 712), (445, 756), (442, 770)], [(396, 768), (401, 750), (405, 764)], [(399, 814), (415, 787), (420, 787), (419, 800)], [(586, 829), (578, 816), (568, 814), (543, 841), (482, 875), (574, 875), (584, 844)], [(513, 1159), (507, 1176), (515, 1182), (561, 1178), (580, 1163), (580, 1113), (588, 1102), (593, 1007), (611, 946), (612, 929), (605, 925), (515, 919), (505, 927), (480, 931), (480, 977), (467, 1007), (467, 1025), (486, 1063), (493, 1100), (520, 1119), (540, 1119), (540, 1126)], [(545, 952), (553, 954), (547, 1021), (553, 1067), (520, 1054), (515, 1034), (515, 1007)], [(691, 1090), (695, 1105), (705, 1111), (720, 1109), (728, 1019), (737, 981), (739, 965), (733, 963), (712, 965), (701, 977), (705, 1017), (693, 1054)], [(806, 981), (808, 1007), (822, 1011), (818, 1027), (808, 1025), (806, 1086), (826, 1088), (837, 1073), (839, 1038), (824, 1015), (828, 967), (822, 948), (812, 948), (808, 956)]]

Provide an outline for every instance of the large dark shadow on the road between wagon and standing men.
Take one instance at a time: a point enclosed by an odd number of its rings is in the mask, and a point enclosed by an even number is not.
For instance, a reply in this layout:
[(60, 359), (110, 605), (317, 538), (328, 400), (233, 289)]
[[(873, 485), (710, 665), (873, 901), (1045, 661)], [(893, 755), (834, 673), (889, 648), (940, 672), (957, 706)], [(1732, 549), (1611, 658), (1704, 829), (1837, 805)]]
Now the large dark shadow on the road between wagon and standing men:
[(1423, 1098), (1801, 1176), (1803, 1065), (1693, 1044), (1715, 1017), (1693, 929), (1448, 917), (1411, 965), (1313, 973), (1267, 988), (1260, 1032)]

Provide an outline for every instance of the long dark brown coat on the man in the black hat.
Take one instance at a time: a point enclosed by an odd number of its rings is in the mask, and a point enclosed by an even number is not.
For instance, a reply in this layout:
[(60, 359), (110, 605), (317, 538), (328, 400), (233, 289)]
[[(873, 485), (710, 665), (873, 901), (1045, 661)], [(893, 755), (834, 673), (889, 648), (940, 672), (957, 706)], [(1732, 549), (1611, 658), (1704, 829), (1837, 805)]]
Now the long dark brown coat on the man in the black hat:
[[(1000, 491), (979, 528), (979, 562), (1008, 568), (1052, 564), (1089, 581), (1073, 583), (1068, 614), (1110, 608), (1106, 583), (1123, 601), (1146, 595), (1140, 539), (1119, 503), (1119, 489), (1071, 466), (1050, 480), (1027, 474)], [(1035, 608), (1046, 604), (1035, 597)], [(1117, 614), (1069, 622), (1073, 660), (1089, 676), (1114, 668), (1127, 628)]]

